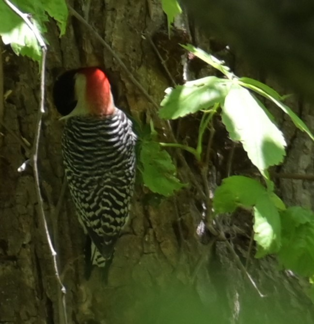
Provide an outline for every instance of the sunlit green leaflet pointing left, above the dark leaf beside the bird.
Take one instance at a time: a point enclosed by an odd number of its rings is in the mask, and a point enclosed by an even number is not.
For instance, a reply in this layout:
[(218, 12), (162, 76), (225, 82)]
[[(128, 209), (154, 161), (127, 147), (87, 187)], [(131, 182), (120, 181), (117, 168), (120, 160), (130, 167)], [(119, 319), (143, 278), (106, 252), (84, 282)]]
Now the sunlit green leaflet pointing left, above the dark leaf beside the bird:
[(159, 116), (176, 119), (208, 109), (215, 103), (222, 103), (230, 88), (231, 81), (219, 77), (204, 77), (177, 86), (167, 93), (161, 102)]

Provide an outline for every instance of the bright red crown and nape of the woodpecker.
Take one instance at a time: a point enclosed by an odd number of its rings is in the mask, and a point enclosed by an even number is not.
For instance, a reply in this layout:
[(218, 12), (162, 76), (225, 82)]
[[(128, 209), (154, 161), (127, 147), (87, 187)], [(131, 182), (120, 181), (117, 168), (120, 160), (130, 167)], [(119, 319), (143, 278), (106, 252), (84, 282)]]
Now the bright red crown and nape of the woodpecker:
[(91, 113), (112, 115), (115, 108), (105, 73), (96, 67), (86, 67), (79, 72), (86, 77), (86, 99), (91, 104)]

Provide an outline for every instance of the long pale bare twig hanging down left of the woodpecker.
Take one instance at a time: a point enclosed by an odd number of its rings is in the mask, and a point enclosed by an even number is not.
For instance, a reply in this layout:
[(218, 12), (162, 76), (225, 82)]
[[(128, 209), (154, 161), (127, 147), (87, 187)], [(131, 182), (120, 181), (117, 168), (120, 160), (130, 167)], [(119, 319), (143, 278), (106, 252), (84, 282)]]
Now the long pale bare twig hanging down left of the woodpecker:
[(39, 215), (42, 218), (42, 222), (44, 225), (44, 229), (46, 232), (46, 237), (47, 237), (47, 243), (50, 248), (50, 252), (52, 255), (53, 259), (53, 264), (54, 264), (54, 270), (55, 270), (55, 277), (57, 281), (59, 282), (59, 285), (61, 287), (61, 292), (62, 292), (62, 308), (63, 308), (63, 321), (65, 324), (67, 324), (67, 317), (66, 317), (66, 304), (65, 304), (65, 287), (63, 286), (63, 283), (60, 279), (59, 275), (59, 270), (57, 266), (57, 260), (56, 260), (56, 251), (54, 250), (51, 242), (51, 238), (49, 235), (48, 231), (48, 226), (47, 226), (47, 220), (44, 212), (44, 202), (43, 198), (41, 195), (41, 190), (40, 190), (40, 182), (39, 182), (39, 173), (38, 173), (38, 149), (39, 149), (39, 139), (40, 139), (40, 132), (41, 132), (41, 124), (42, 124), (42, 116), (45, 113), (45, 67), (46, 67), (46, 53), (47, 53), (47, 46), (44, 42), (44, 39), (41, 37), (39, 31), (31, 23), (31, 20), (29, 18), (29, 15), (22, 13), (19, 11), (15, 5), (13, 5), (10, 1), (8, 0), (3, 0), (6, 5), (8, 5), (15, 13), (16, 15), (20, 16), (24, 22), (27, 24), (27, 26), (31, 29), (33, 32), (34, 36), (36, 37), (36, 40), (41, 47), (41, 52), (42, 52), (42, 60), (41, 60), (41, 76), (40, 76), (40, 106), (38, 109), (38, 114), (37, 114), (37, 127), (35, 130), (35, 137), (32, 145), (32, 167), (33, 167), (33, 176), (34, 176), (34, 182), (35, 182), (35, 191), (36, 191), (36, 196), (37, 196), (37, 201), (38, 201), (38, 211)]

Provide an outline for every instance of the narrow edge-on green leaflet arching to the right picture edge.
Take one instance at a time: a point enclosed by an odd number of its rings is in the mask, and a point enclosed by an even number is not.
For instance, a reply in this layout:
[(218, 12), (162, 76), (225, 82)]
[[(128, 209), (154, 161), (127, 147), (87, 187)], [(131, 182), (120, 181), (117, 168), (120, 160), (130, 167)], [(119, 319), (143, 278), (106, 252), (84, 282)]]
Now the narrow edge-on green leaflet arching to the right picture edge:
[(248, 78), (241, 77), (238, 80), (239, 84), (271, 100), (274, 104), (276, 104), (279, 108), (281, 108), (284, 113), (286, 113), (290, 117), (292, 122), (299, 130), (305, 132), (312, 140), (314, 140), (314, 135), (311, 133), (307, 125), (288, 106), (283, 104), (283, 102), (281, 101), (285, 96), (280, 96), (277, 92), (275, 92), (275, 90), (269, 88), (263, 83), (262, 83), (263, 86), (261, 87), (261, 84), (258, 81), (246, 83), (245, 81), (247, 81), (247, 79)]

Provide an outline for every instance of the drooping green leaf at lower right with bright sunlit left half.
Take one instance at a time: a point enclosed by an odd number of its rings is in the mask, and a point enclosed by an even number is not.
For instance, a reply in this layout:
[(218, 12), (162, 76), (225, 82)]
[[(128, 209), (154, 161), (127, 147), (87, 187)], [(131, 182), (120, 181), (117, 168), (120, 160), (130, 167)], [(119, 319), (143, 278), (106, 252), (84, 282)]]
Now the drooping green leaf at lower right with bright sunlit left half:
[(268, 193), (260, 195), (254, 206), (254, 240), (259, 245), (256, 257), (277, 252), (281, 245), (281, 223), (278, 209)]

